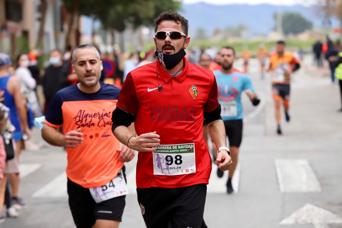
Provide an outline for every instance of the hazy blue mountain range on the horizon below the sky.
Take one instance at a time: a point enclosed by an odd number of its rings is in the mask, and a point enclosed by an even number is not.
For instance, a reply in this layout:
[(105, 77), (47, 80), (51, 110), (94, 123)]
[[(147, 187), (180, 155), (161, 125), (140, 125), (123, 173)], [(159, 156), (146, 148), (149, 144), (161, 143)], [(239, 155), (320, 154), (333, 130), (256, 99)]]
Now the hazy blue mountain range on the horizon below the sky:
[[(215, 28), (225, 29), (244, 24), (250, 29), (252, 35), (267, 35), (274, 29), (274, 13), (279, 7), (271, 4), (227, 4), (212, 5), (208, 3), (182, 4), (179, 11), (189, 21), (189, 34), (195, 35), (198, 28), (203, 28), (207, 35), (212, 35)], [(300, 13), (305, 19), (311, 21), (314, 27), (321, 27), (323, 12), (319, 7), (305, 7), (303, 5), (281, 6), (280, 11)], [(337, 18), (331, 19), (332, 27), (339, 26)]]

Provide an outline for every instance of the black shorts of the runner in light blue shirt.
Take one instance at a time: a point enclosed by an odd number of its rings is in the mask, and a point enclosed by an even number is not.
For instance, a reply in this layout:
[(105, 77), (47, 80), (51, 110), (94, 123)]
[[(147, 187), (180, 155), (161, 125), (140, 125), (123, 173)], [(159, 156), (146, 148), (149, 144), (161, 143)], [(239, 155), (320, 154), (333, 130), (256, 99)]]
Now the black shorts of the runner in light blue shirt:
[(226, 135), (228, 136), (229, 146), (239, 147), (242, 141), (242, 119), (223, 121)]

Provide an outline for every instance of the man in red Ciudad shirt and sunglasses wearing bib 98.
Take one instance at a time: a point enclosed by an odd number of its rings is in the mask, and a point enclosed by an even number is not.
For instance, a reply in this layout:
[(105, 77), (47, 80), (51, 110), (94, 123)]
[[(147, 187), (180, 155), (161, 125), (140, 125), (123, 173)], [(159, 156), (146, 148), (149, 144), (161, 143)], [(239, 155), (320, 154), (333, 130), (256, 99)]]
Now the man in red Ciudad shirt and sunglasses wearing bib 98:
[[(139, 151), (138, 203), (148, 228), (207, 227), (203, 220), (211, 157), (203, 118), (217, 146), (215, 164), (231, 167), (215, 76), (189, 63), (188, 21), (171, 11), (155, 19), (157, 61), (128, 73), (112, 131)], [(127, 128), (134, 122), (137, 137)]]

